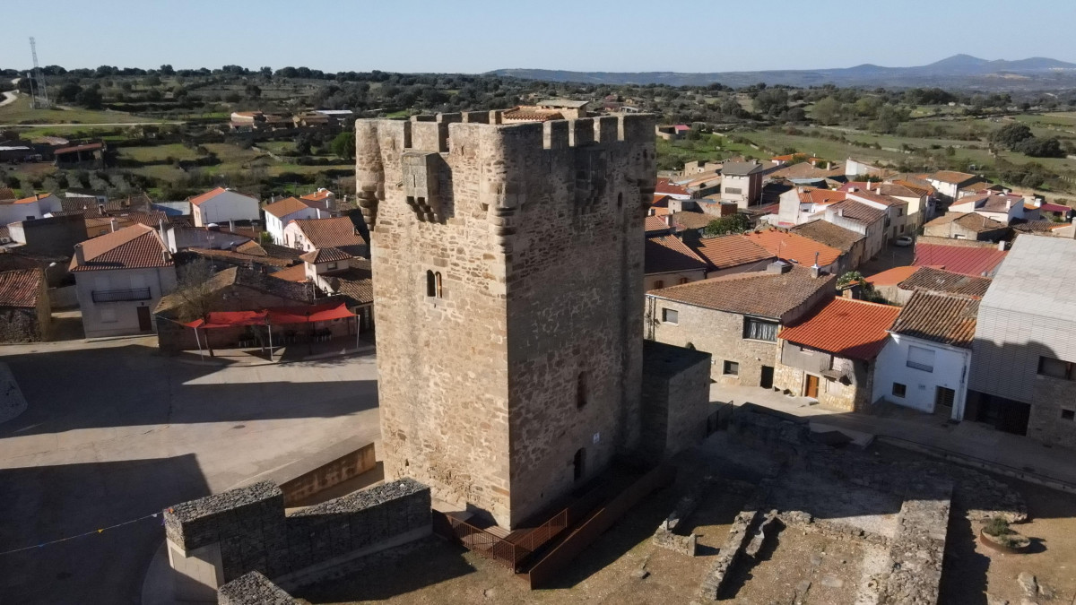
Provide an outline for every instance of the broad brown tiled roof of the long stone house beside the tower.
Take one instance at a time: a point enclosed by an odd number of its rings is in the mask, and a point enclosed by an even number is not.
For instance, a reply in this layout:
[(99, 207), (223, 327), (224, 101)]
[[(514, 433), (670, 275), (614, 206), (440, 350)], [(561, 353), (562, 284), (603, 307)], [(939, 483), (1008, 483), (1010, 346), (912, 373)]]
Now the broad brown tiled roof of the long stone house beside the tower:
[(653, 290), (648, 294), (718, 311), (780, 320), (810, 300), (820, 290), (834, 290), (836, 282), (836, 276), (813, 278), (806, 267), (791, 267), (784, 273), (733, 273)]

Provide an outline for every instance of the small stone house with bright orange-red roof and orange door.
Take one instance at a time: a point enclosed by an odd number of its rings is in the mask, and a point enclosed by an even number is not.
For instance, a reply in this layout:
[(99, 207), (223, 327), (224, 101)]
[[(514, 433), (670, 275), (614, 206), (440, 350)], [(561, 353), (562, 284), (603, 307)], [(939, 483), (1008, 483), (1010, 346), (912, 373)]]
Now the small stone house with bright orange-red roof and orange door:
[(778, 337), (774, 388), (839, 411), (872, 404), (875, 358), (900, 307), (834, 298)]

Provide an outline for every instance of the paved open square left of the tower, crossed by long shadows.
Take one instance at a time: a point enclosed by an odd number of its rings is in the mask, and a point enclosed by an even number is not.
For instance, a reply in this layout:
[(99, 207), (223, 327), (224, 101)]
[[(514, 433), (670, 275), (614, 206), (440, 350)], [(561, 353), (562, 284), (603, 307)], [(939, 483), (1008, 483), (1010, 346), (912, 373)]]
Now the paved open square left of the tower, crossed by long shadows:
[(0, 424), (0, 602), (137, 604), (160, 519), (108, 527), (380, 434), (372, 355), (221, 368), (153, 344), (0, 347), (28, 402)]

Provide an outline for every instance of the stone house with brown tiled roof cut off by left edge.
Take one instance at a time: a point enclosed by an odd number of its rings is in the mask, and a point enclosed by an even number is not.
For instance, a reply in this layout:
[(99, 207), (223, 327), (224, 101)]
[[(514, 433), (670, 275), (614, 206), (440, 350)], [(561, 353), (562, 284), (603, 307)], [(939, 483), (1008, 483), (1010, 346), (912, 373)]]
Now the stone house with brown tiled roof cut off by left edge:
[(44, 271), (0, 271), (0, 342), (47, 340), (51, 324)]

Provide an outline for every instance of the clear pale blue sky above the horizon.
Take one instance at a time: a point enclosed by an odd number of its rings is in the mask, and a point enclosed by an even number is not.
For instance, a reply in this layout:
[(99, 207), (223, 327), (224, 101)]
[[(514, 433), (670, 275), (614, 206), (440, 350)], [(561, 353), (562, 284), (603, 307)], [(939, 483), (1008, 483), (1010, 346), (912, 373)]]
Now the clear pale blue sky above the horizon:
[[(0, 68), (745, 71), (1076, 62), (1074, 0), (0, 0)], [(17, 33), (16, 33), (17, 32)]]

